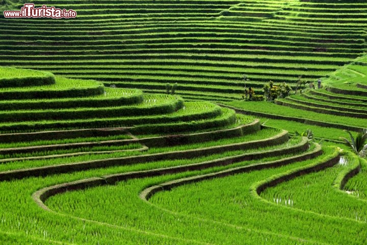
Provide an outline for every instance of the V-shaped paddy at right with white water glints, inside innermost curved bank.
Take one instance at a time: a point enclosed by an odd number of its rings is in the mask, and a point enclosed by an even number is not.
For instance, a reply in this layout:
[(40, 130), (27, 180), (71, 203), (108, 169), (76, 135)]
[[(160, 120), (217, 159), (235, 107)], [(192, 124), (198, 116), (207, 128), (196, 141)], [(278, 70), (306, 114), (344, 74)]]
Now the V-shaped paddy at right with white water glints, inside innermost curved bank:
[[(336, 184), (336, 179), (341, 172), (359, 165), (357, 157), (346, 159), (345, 164), (347, 165), (337, 164), (324, 171), (301, 176), (274, 188), (268, 188), (261, 193), (261, 197), (269, 202), (274, 202), (274, 200), (276, 202), (277, 199), (283, 200), (279, 202), (279, 205), (285, 205), (286, 200), (286, 206), (289, 206), (288, 203), (291, 200), (294, 209), (365, 223), (367, 217), (365, 203), (355, 200), (345, 191), (330, 188)], [(315, 202), (319, 205), (315, 205)]]

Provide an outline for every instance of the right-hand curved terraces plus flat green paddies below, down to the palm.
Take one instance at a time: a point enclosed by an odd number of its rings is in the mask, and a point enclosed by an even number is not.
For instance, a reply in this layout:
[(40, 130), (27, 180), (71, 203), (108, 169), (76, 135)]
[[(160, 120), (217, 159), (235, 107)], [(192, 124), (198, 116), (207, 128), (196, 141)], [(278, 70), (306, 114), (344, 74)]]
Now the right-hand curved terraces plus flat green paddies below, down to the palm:
[[(238, 113), (256, 116), (292, 133), (311, 129), (319, 138), (340, 140), (344, 130), (360, 132), (367, 125), (366, 57), (328, 74), (322, 88), (306, 89), (269, 102), (223, 102)], [(355, 133), (356, 134), (356, 133)]]

